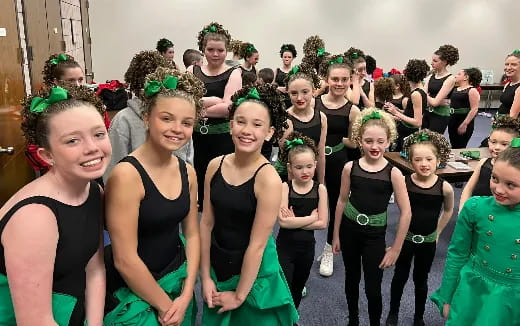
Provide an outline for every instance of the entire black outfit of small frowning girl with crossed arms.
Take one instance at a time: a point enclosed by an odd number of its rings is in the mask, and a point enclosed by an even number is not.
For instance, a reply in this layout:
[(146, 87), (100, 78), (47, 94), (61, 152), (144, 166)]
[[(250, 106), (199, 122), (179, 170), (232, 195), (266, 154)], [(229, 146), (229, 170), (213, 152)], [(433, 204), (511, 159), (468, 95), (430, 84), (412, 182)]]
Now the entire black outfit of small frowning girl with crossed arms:
[[(292, 181), (287, 182), (289, 186), (289, 207), (293, 208), (297, 217), (309, 216), (318, 208), (320, 184), (314, 184), (305, 194), (297, 193)], [(291, 294), (296, 308), (300, 306), (302, 291), (309, 278), (312, 263), (314, 262), (314, 230), (284, 229), (280, 227), (276, 238), (276, 249), (278, 260), (285, 274), (285, 279), (291, 289)]]

